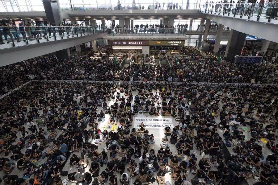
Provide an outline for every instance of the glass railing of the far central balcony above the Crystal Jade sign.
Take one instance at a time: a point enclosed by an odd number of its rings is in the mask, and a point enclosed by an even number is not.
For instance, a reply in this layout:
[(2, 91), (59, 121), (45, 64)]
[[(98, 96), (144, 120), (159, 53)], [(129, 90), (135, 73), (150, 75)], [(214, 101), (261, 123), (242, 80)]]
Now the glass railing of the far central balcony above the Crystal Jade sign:
[[(198, 32), (202, 34), (204, 32), (204, 25), (203, 26), (176, 26), (174, 28), (159, 28), (159, 27), (140, 27), (140, 28), (117, 28), (111, 27), (107, 28), (107, 35), (186, 35), (187, 32)], [(217, 25), (210, 25), (209, 31), (210, 32), (217, 32), (218, 26)], [(224, 27), (223, 31), (230, 31), (229, 27)]]

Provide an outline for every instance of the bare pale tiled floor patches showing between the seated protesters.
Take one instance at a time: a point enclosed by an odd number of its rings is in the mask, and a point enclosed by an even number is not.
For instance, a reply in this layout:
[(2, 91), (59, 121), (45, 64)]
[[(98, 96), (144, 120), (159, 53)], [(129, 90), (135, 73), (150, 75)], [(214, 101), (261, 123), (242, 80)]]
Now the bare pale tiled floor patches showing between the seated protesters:
[[(135, 95), (137, 94), (137, 91), (135, 91), (135, 92), (132, 92), (133, 93), (133, 97), (135, 97)], [(124, 96), (124, 95), (123, 95)], [(78, 101), (78, 99), (77, 99), (77, 101)], [(108, 104), (108, 103), (107, 103)], [(112, 104), (114, 104), (114, 101), (110, 101), (109, 102), (109, 104), (108, 105), (112, 105)], [(133, 103), (132, 103), (133, 104)], [(220, 107), (221, 107), (221, 105), (220, 105)], [(99, 107), (99, 111), (98, 112), (100, 112), (100, 110), (101, 110), (101, 108)], [(138, 115), (144, 115), (144, 116), (147, 116), (147, 117), (155, 117), (155, 116), (150, 116), (148, 113), (145, 113), (145, 114), (138, 114)], [(108, 119), (109, 119), (109, 115), (106, 115), (106, 118), (105, 118), (105, 121), (103, 121), (103, 122), (98, 122), (98, 124), (99, 124), (99, 128), (101, 129), (101, 130), (103, 130), (102, 128), (103, 128), (103, 126), (104, 125), (107, 125), (107, 121), (108, 121)], [(174, 118), (172, 118), (172, 121), (173, 121), (173, 124), (174, 124), (174, 126), (177, 124), (177, 122), (175, 121), (175, 119)], [(216, 118), (216, 120), (215, 120), (216, 122), (217, 122), (217, 124), (220, 122), (220, 120), (219, 120), (219, 117), (218, 118)], [(246, 119), (246, 121), (249, 121), (248, 119)], [(130, 127), (130, 128), (133, 128), (134, 127), (134, 119), (133, 119), (133, 125)], [(239, 127), (242, 127), (242, 126), (239, 126)], [(89, 127), (87, 128), (87, 129), (90, 129)], [(46, 130), (46, 129), (45, 129)], [(164, 137), (164, 133), (163, 133), (163, 129), (162, 128), (160, 128), (160, 129), (154, 129), (154, 128), (148, 128), (148, 130), (149, 130), (149, 133), (150, 134), (154, 134), (154, 138), (155, 138), (155, 144), (154, 145), (152, 145), (151, 146), (151, 148), (153, 148), (154, 150), (155, 150), (155, 152), (157, 153), (157, 151), (159, 150), (159, 148), (160, 148), (160, 140)], [(247, 125), (247, 129), (246, 130), (249, 130), (249, 126)], [(110, 131), (110, 129), (107, 129), (107, 131), (109, 132)], [(57, 130), (57, 132), (58, 132), (58, 135), (61, 133), (61, 131), (59, 131), (59, 130)], [(221, 132), (221, 131), (219, 131), (218, 130), (218, 133), (219, 133), (219, 135), (222, 137), (223, 136), (223, 132)], [(196, 134), (196, 130), (195, 130), (195, 134)], [(244, 135), (246, 136), (246, 138), (247, 139), (250, 139), (251, 138), (251, 135), (249, 134), (249, 133), (247, 133), (247, 132), (245, 132), (244, 133)], [(18, 134), (18, 138), (19, 138), (20, 136), (19, 136), (19, 134)], [(170, 136), (168, 137), (169, 139), (170, 139)], [(223, 137), (222, 137), (223, 138)], [(15, 143), (13, 143), (13, 144), (15, 144)], [(262, 142), (259, 142), (259, 144), (263, 144)], [(265, 144), (263, 144), (264, 146), (265, 146)], [(102, 143), (101, 145), (99, 145), (98, 146), (98, 151), (102, 151), (102, 149), (104, 148), (104, 143)], [(50, 150), (51, 148), (48, 148), (47, 150)], [(171, 151), (172, 151), (172, 153), (174, 154), (177, 150), (176, 150), (176, 147), (174, 146), (174, 145), (172, 145), (172, 144), (170, 144), (170, 149), (171, 149)], [(22, 153), (24, 154), (24, 152), (25, 152), (25, 150), (26, 150), (26, 148), (24, 148), (23, 150), (22, 150)], [(230, 154), (234, 154), (234, 152), (232, 151), (232, 147), (228, 147), (228, 150), (229, 150), (229, 152), (230, 152)], [(197, 163), (200, 161), (200, 155), (199, 155), (199, 153), (200, 153), (200, 151), (199, 150), (196, 150), (196, 148), (195, 148), (195, 146), (194, 146), (194, 148), (193, 148), (193, 150), (191, 150), (190, 151), (191, 153), (195, 153), (196, 152), (196, 157), (198, 158), (198, 161), (197, 161)], [(80, 152), (78, 152), (78, 153), (74, 153), (74, 154), (76, 154), (78, 157), (80, 157), (81, 155), (80, 155)], [(263, 154), (264, 154), (264, 156), (267, 156), (268, 154), (272, 154), (272, 152), (270, 151), (270, 150), (268, 150), (267, 148), (266, 149), (263, 149)], [(3, 155), (3, 154), (1, 154), (1, 155)], [(71, 154), (72, 155), (72, 154)], [(109, 155), (109, 154), (108, 154)], [(10, 156), (10, 154), (9, 154), (9, 156)], [(70, 156), (71, 157), (71, 156)], [(46, 158), (45, 158), (46, 159)], [(39, 164), (42, 164), (43, 162), (44, 162), (44, 160), (45, 159), (40, 159), (39, 160)], [(138, 158), (137, 158), (138, 159)], [(90, 168), (90, 165), (91, 165), (91, 160), (89, 159), (89, 165), (88, 165), (88, 167), (86, 168), (86, 171), (88, 171), (89, 170), (89, 168)], [(100, 172), (102, 172), (104, 169), (105, 169), (105, 165), (103, 166), (103, 167), (100, 167)], [(216, 169), (216, 167), (213, 167), (213, 170), (217, 170)], [(71, 171), (70, 171), (70, 165), (69, 165), (69, 160), (67, 161), (67, 163), (65, 164), (65, 167), (63, 168), (63, 170), (62, 171), (69, 171), (69, 173), (72, 173), (72, 172), (74, 172), (74, 171), (77, 171), (77, 169), (74, 167)], [(127, 172), (127, 170), (125, 170), (125, 172)], [(23, 175), (23, 171), (21, 171), (21, 170), (18, 170), (16, 167), (15, 167), (15, 169), (11, 172), (11, 174), (12, 175), (18, 175), (19, 177), (22, 177), (22, 175)], [(118, 178), (118, 184), (121, 184), (120, 182), (119, 182), (119, 179), (120, 179), (120, 174), (119, 173), (116, 173), (116, 175), (117, 175), (117, 178)], [(155, 173), (155, 175), (156, 175), (156, 173)], [(1, 175), (2, 176), (2, 175)], [(189, 173), (188, 175), (187, 175), (187, 180), (189, 180), (190, 181), (190, 179), (192, 179), (192, 177), (193, 177), (194, 175), (192, 175), (191, 173)], [(32, 178), (32, 176), (31, 176), (31, 178)], [(67, 177), (61, 177), (61, 179), (64, 179), (64, 178), (67, 178)], [(130, 184), (132, 184), (133, 182), (134, 182), (134, 180), (135, 180), (135, 177), (133, 177), (133, 178), (131, 178), (130, 179)], [(169, 182), (173, 185), (174, 184), (174, 181), (172, 180), (172, 178), (170, 177), (170, 174), (166, 174), (166, 181), (167, 180), (169, 180)], [(248, 180), (247, 181), (248, 182), (248, 184), (253, 184), (253, 183), (255, 183), (255, 181), (253, 180), (253, 179), (251, 179), (251, 180)], [(75, 183), (68, 183), (69, 185), (74, 185)], [(106, 184), (108, 184), (108, 182), (106, 183)], [(144, 184), (144, 183), (143, 183)], [(155, 182), (154, 184), (157, 184), (157, 182)]]

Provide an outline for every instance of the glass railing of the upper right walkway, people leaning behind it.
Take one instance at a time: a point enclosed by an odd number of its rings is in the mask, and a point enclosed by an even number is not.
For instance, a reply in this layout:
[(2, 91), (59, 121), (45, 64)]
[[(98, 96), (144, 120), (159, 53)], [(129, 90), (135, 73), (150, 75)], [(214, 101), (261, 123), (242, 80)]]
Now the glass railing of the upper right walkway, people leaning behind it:
[[(278, 18), (278, 3), (205, 3), (201, 4), (199, 11), (207, 14), (217, 14), (250, 20), (263, 20)], [(262, 19), (263, 18), (263, 19)]]

